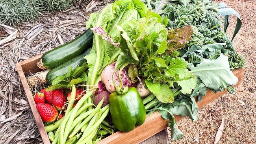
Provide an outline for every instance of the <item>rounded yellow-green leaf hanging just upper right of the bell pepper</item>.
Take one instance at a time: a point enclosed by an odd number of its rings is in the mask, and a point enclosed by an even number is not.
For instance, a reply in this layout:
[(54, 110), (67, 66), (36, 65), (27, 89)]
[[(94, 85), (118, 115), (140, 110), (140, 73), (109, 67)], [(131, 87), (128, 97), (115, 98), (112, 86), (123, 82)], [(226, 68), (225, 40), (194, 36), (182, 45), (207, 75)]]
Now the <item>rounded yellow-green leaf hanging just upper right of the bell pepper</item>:
[(174, 102), (173, 91), (165, 83), (161, 84), (160, 92), (153, 92), (156, 98), (162, 103)]

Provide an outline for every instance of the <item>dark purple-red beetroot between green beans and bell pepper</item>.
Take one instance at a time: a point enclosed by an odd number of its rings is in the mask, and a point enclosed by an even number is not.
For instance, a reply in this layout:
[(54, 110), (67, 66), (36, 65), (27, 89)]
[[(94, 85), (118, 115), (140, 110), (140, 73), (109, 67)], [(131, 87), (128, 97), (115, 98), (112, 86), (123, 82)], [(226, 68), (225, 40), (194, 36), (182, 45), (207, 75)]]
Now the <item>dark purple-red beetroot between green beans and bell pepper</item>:
[(102, 108), (102, 107), (105, 107), (106, 105), (108, 105), (108, 97), (109, 97), (110, 93), (107, 90), (104, 89), (103, 84), (102, 84), (101, 81), (98, 82), (98, 85), (99, 85), (99, 90), (94, 92), (95, 96), (94, 96), (94, 99), (93, 99), (93, 104), (97, 106), (98, 103), (104, 97), (104, 102), (101, 106), (101, 108)]

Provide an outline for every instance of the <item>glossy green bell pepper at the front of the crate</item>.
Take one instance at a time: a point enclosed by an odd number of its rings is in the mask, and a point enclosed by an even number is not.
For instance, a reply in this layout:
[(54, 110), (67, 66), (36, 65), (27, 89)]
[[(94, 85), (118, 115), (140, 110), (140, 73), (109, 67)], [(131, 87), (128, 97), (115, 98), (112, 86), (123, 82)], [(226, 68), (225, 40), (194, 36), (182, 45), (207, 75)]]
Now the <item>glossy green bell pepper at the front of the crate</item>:
[(123, 94), (111, 93), (109, 108), (111, 120), (119, 131), (132, 131), (135, 126), (142, 125), (146, 118), (146, 109), (135, 87)]

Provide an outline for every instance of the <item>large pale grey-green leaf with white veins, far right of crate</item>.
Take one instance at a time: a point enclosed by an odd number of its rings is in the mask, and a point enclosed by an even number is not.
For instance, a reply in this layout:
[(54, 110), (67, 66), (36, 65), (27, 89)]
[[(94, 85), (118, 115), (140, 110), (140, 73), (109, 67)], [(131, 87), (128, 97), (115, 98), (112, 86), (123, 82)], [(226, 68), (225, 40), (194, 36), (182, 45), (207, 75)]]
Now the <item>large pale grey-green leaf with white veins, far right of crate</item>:
[(230, 71), (228, 57), (221, 54), (217, 59), (203, 59), (197, 67), (189, 64), (191, 72), (200, 78), (206, 87), (218, 90), (226, 89), (229, 85), (235, 85), (237, 77)]

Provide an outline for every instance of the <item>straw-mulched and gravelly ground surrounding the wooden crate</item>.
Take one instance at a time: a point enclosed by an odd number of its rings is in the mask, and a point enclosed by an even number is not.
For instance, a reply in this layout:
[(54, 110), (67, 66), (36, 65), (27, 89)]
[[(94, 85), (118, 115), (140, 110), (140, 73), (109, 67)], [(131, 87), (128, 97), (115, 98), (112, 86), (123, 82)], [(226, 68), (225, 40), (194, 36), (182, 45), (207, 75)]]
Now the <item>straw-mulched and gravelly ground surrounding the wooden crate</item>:
[[(256, 3), (255, 0), (224, 2), (239, 11), (243, 21), (234, 41), (237, 52), (247, 61), (243, 84), (236, 89), (236, 94), (225, 94), (202, 107), (196, 122), (191, 122), (189, 118), (177, 122), (184, 137), (170, 140), (172, 144), (212, 144), (222, 118), (225, 120), (224, 133), (219, 144), (256, 143)], [(0, 144), (42, 143), (15, 63), (44, 53), (60, 45), (61, 40), (65, 43), (78, 36), (85, 30), (84, 23), (88, 16), (87, 12), (77, 9), (44, 14), (40, 20), (15, 26), (17, 37), (0, 46)], [(230, 21), (229, 36), (234, 30), (236, 18), (231, 17)], [(37, 29), (31, 31), (32, 28)], [(26, 35), (29, 31), (32, 34)], [(0, 32), (1, 40), (7, 33)], [(9, 121), (1, 123), (7, 118)]]

